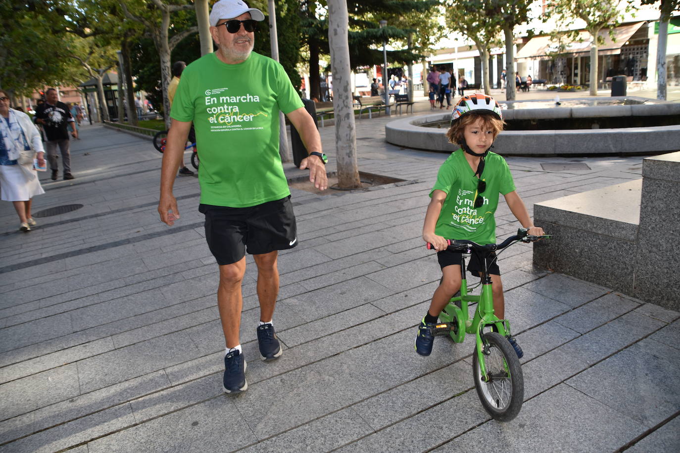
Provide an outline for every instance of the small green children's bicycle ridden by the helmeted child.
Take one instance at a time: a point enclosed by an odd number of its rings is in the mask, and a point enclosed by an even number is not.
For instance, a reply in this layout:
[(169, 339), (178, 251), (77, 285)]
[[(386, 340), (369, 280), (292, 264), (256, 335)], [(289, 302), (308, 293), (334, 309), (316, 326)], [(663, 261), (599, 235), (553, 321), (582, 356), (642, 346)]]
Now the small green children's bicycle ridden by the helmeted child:
[[(442, 321), (432, 329), (432, 335), (448, 335), (456, 343), (462, 343), (465, 334), (475, 335), (475, 352), (473, 353), (473, 376), (477, 396), (488, 412), (496, 420), (507, 422), (520, 413), (524, 402), (524, 378), (522, 366), (515, 349), (510, 344), (510, 323), (507, 319), (498, 319), (494, 314), (491, 277), (487, 271), (485, 255), (518, 241), (534, 242), (550, 235), (528, 236), (520, 229), (500, 244), (479, 245), (470, 240), (448, 240), (451, 251), (477, 253), (479, 261), (484, 264), (481, 293), (469, 295), (465, 275), (465, 259), (461, 258), (460, 295), (455, 295), (445, 306), (439, 320)], [(432, 249), (432, 244), (427, 244)], [(473, 319), (470, 319), (468, 306), (477, 303)]]

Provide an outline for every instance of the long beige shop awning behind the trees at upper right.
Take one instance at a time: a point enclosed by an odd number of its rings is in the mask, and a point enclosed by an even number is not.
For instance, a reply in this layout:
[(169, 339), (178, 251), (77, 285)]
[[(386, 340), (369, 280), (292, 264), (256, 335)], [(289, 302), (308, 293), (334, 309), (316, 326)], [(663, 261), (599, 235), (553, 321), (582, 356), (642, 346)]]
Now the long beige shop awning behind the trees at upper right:
[[(605, 43), (598, 46), (599, 55), (616, 55), (621, 53), (621, 46), (623, 46), (636, 31), (645, 23), (635, 22), (617, 26), (614, 29), (614, 39), (609, 36), (609, 30), (600, 30), (599, 35), (605, 39)], [(579, 31), (579, 37), (566, 46), (563, 54), (571, 56), (587, 56), (590, 54), (590, 44), (592, 43), (592, 35), (585, 30)], [(552, 41), (549, 36), (537, 36), (529, 40), (519, 51), (517, 51), (518, 60), (522, 58), (547, 58), (551, 54), (557, 52), (558, 43)]]

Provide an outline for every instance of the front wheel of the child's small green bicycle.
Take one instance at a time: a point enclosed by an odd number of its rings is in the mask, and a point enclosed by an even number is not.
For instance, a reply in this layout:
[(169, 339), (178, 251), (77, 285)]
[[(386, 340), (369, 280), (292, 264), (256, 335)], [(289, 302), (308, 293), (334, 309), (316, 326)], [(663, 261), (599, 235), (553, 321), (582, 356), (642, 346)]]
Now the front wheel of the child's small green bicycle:
[(485, 333), (483, 340), (488, 345), (488, 354), (483, 352), (481, 357), (489, 380), (484, 382), (475, 348), (472, 367), (477, 396), (490, 416), (501, 422), (509, 422), (520, 413), (524, 402), (520, 359), (517, 359), (517, 353), (507, 338), (500, 334)]

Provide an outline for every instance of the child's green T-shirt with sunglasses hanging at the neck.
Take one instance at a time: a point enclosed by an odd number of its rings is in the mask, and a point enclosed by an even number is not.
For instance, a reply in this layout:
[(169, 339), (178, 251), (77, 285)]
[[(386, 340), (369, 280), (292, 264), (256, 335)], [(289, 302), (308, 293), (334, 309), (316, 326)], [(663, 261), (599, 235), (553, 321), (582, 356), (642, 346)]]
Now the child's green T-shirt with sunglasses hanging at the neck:
[(477, 197), (477, 177), (465, 160), (462, 149), (458, 149), (445, 160), (439, 168), (437, 183), (432, 192), (446, 192), (441, 207), (435, 234), (446, 239), (467, 239), (478, 244), (496, 243), (496, 219), (498, 194), (509, 194), (515, 190), (507, 162), (496, 153), (488, 153), (484, 158), (485, 166), (481, 179), (486, 181), (486, 189), (481, 193), (484, 204), (475, 209)]

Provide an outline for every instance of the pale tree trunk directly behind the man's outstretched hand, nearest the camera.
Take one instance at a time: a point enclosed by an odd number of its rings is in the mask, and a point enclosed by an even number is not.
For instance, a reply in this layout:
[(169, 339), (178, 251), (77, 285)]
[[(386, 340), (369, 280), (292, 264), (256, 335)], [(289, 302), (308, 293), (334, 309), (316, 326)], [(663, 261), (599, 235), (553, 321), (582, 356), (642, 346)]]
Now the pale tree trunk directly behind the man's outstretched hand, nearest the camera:
[(349, 17), (347, 0), (328, 0), (328, 43), (333, 70), (333, 110), (338, 185), (341, 189), (361, 187), (356, 162), (356, 128), (352, 108)]

